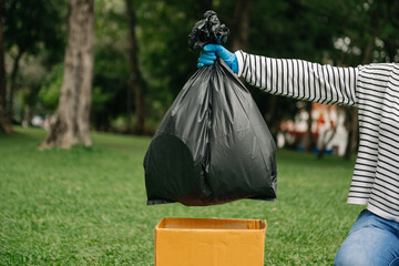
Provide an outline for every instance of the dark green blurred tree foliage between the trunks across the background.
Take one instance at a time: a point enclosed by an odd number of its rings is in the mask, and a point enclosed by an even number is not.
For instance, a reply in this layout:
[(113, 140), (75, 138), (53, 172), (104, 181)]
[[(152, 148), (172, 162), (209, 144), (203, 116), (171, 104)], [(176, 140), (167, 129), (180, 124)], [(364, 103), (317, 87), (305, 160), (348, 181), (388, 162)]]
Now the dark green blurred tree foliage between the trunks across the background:
[[(20, 50), (27, 51), (35, 57), (33, 64), (44, 65), (47, 73), (41, 78), (35, 108), (35, 112), (43, 114), (57, 108), (66, 4), (64, 0), (41, 1), (7, 1), (6, 49), (11, 58)], [(399, 60), (397, 1), (252, 0), (248, 28), (237, 27), (244, 23), (235, 16), (239, 2), (243, 1), (134, 1), (132, 10), (147, 131), (155, 130), (175, 95), (196, 71), (198, 54), (188, 50), (187, 34), (208, 9), (215, 10), (221, 21), (231, 28), (226, 44), (229, 49), (233, 38), (242, 33), (237, 31), (247, 29), (245, 51), (249, 53), (352, 66)], [(126, 129), (130, 64), (125, 8), (124, 0), (96, 0), (91, 111), (91, 124), (96, 130)], [(8, 62), (10, 79), (12, 60)], [(33, 88), (34, 84), (25, 83), (24, 74), (17, 75), (17, 84)], [(255, 88), (249, 90), (274, 132), (280, 120), (297, 112), (295, 100), (267, 95)]]

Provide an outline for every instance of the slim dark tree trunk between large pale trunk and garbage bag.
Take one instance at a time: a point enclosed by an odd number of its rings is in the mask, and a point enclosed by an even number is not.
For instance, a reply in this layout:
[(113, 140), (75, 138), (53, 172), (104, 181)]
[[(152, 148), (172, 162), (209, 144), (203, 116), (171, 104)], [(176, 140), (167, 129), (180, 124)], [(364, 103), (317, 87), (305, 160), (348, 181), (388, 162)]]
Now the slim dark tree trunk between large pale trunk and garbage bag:
[(135, 124), (134, 133), (144, 134), (144, 116), (145, 116), (145, 104), (144, 93), (141, 85), (141, 72), (139, 68), (137, 57), (137, 40), (135, 35), (135, 13), (133, 11), (132, 0), (126, 0), (126, 17), (129, 23), (129, 61), (130, 61), (130, 74), (129, 74), (129, 89), (127, 89), (127, 130), (131, 130), (131, 114), (132, 114), (132, 94), (134, 95), (135, 105)]

